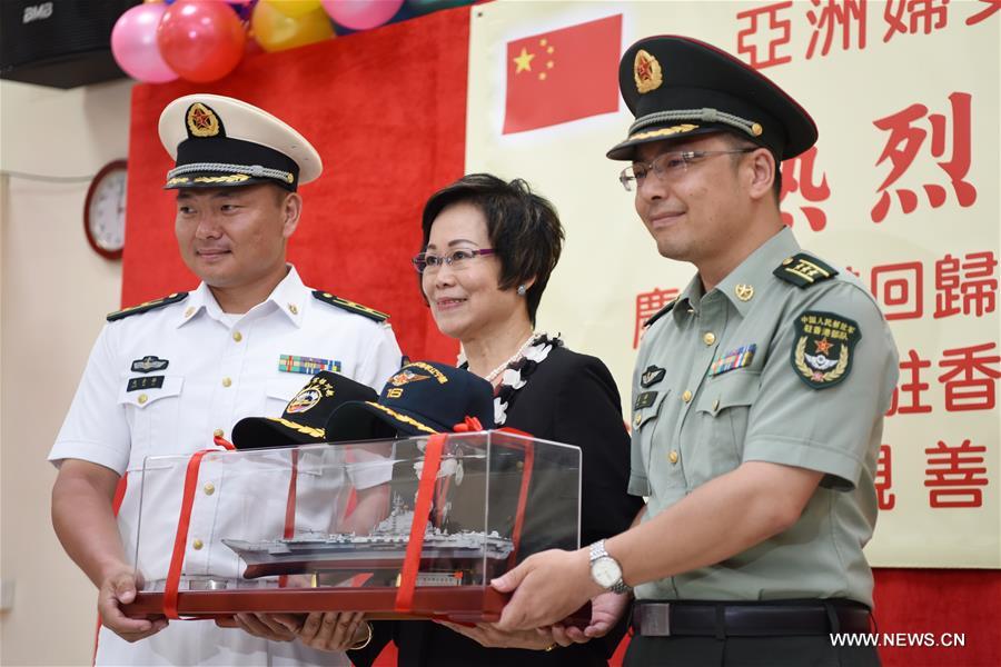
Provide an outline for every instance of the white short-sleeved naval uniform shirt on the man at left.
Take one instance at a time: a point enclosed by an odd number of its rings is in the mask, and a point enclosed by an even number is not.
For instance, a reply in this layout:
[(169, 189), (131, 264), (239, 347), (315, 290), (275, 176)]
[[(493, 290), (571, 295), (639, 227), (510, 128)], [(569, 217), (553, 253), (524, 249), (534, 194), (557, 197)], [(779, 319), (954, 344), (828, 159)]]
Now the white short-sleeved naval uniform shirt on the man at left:
[[(400, 364), (399, 347), (387, 323), (314, 298), (295, 268), (289, 268), (262, 303), (242, 316), (225, 315), (202, 283), (184, 300), (105, 326), (49, 460), (58, 465), (66, 458), (82, 459), (129, 474), (119, 530), (131, 560), (146, 457), (194, 454), (214, 447), (217, 432), (228, 438), (244, 417), (281, 415), (309, 380), (308, 375), (283, 370), (287, 368), (279, 362), (283, 355), (334, 361), (333, 370), (376, 390)], [(145, 374), (133, 371), (133, 361), (147, 357), (167, 365)], [(130, 379), (157, 376), (163, 377), (162, 386), (129, 390)], [(287, 478), (284, 487), (275, 485), (279, 488), (274, 495), (281, 498), (283, 507)], [(229, 488), (221, 479), (212, 481), (211, 494), (202, 486), (196, 497), (185, 571), (234, 577), (238, 559), (218, 541), (226, 537), (226, 530), (220, 530), (226, 517), (218, 516), (214, 504), (232, 507), (235, 494), (254, 490), (245, 485)], [(179, 499), (180, 489), (171, 492)], [(143, 552), (162, 552), (162, 558), (158, 563), (147, 558), (139, 568), (149, 567), (145, 576), (158, 579), (172, 548), (178, 501), (163, 502), (165, 510), (156, 512), (150, 507), (160, 504), (149, 491), (147, 496)], [(147, 549), (152, 547), (147, 542), (150, 535), (159, 536), (160, 547)], [(201, 548), (194, 548), (195, 539), (201, 539)], [(98, 663), (108, 665), (347, 664), (338, 659), (344, 657), (313, 651), (298, 643), (266, 641), (242, 630), (217, 628), (211, 621), (171, 621), (166, 630), (131, 645), (102, 628), (98, 653)]]

